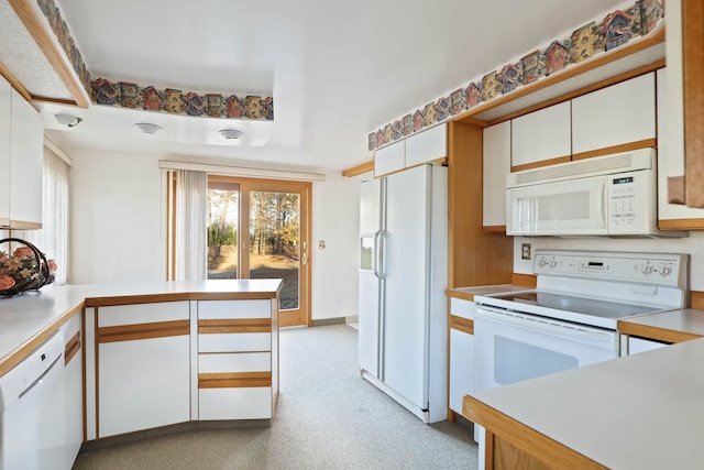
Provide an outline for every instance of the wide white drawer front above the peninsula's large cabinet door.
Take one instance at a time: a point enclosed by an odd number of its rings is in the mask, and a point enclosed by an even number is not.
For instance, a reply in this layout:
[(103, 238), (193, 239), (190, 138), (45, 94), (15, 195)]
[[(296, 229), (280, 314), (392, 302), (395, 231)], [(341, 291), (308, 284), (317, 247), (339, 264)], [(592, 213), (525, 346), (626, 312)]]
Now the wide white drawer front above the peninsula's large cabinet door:
[(188, 320), (190, 313), (188, 302), (116, 305), (97, 310), (99, 327)]

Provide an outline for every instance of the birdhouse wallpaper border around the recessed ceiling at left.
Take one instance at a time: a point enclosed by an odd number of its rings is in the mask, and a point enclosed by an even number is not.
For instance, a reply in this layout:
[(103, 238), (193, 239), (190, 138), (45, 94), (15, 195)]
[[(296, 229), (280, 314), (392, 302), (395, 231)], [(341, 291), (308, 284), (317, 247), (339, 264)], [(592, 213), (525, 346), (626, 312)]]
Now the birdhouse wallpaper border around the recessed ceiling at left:
[(90, 100), (96, 105), (194, 117), (274, 120), (274, 98), (271, 96), (244, 96), (243, 94), (238, 96), (234, 92), (183, 92), (174, 88), (157, 89), (153, 85), (140, 86), (129, 81), (110, 81), (106, 78), (94, 80), (54, 0), (36, 0), (36, 3), (48, 21), (81, 85), (90, 95)]

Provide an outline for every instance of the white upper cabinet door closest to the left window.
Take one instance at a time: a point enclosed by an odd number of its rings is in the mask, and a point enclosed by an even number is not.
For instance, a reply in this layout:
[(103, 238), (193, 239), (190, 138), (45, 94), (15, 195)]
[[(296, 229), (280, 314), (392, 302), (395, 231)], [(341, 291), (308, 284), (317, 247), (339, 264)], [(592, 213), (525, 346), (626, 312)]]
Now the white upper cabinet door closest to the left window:
[(14, 228), (42, 227), (42, 171), (44, 129), (42, 117), (12, 90), (10, 139), (10, 220)]

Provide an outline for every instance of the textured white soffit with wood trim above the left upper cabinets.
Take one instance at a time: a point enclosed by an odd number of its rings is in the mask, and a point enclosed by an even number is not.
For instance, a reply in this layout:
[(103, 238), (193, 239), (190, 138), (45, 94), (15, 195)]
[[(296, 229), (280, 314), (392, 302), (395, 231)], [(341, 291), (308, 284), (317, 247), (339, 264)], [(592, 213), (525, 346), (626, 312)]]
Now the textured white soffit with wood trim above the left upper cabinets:
[(0, 74), (28, 100), (87, 108), (89, 96), (32, 0), (0, 0)]

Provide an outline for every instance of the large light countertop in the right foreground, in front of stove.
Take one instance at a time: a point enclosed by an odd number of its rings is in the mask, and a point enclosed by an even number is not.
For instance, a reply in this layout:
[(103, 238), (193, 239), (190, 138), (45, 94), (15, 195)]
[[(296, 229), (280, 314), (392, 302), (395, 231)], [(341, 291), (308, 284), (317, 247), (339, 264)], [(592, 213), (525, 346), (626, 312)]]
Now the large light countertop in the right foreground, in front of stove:
[(686, 341), (476, 392), (464, 414), (499, 412), (607, 468), (701, 468), (703, 358)]

